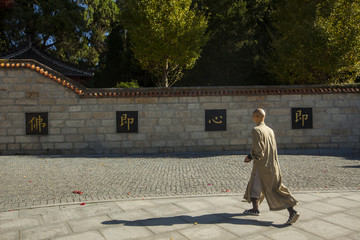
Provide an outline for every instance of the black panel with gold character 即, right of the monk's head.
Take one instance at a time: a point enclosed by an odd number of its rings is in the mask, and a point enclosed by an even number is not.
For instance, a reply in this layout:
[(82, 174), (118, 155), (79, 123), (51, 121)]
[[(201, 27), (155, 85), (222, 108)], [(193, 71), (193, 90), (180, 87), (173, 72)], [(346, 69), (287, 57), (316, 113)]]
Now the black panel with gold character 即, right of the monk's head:
[(312, 108), (292, 108), (292, 129), (313, 128)]

